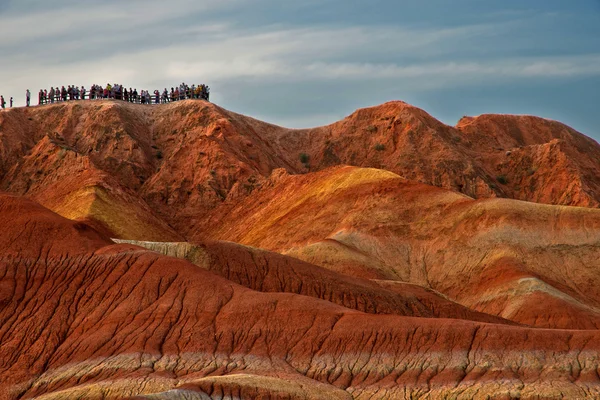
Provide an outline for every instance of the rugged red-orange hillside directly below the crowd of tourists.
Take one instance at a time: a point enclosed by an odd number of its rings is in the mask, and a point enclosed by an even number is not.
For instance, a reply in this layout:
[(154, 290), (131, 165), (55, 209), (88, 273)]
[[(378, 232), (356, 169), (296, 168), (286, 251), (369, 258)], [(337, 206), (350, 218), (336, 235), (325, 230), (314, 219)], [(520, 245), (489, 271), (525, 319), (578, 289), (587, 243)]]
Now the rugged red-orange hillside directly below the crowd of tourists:
[[(272, 147), (282, 130), (204, 101), (11, 109), (0, 115), (0, 188), (59, 212), (65, 197), (81, 202), (77, 217), (116, 237), (180, 240), (190, 220), (250, 193), (272, 169), (297, 172)], [(83, 171), (94, 182), (80, 183)]]

